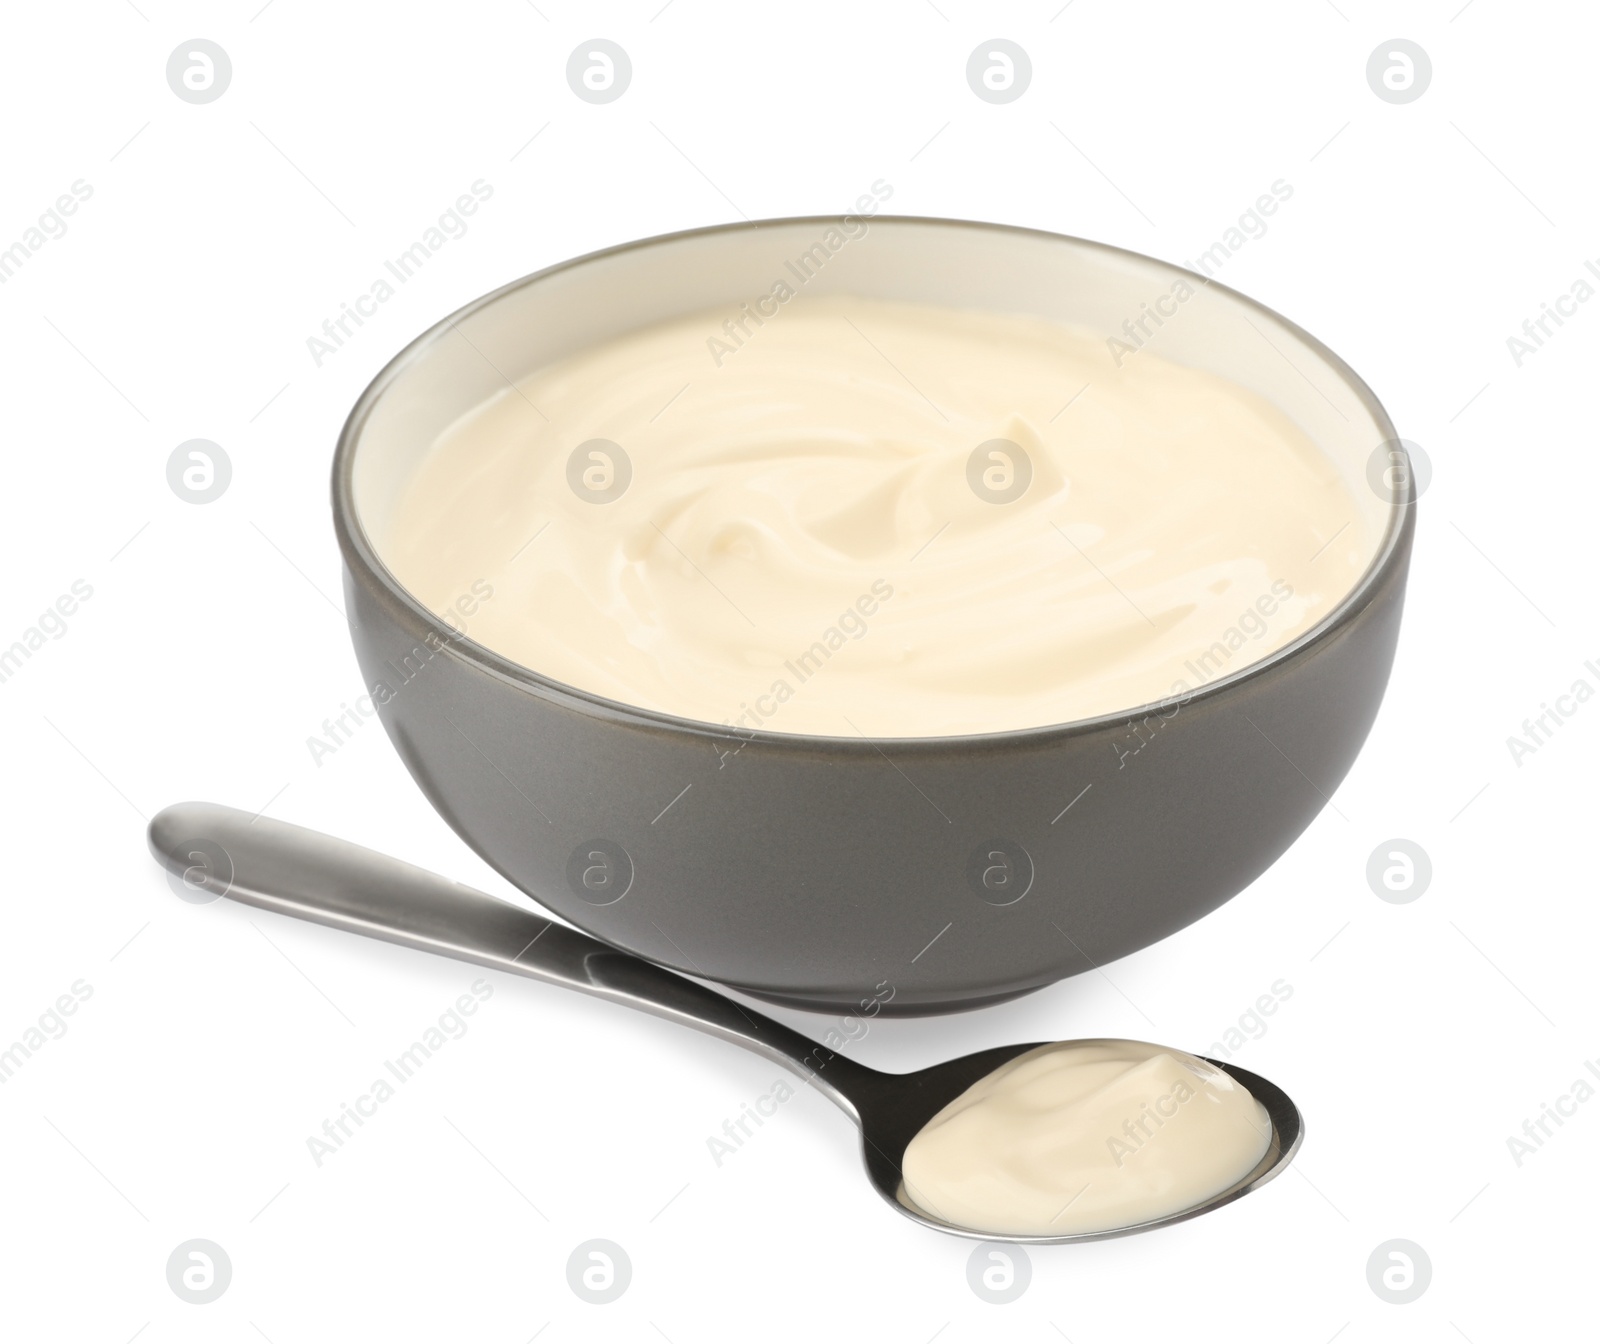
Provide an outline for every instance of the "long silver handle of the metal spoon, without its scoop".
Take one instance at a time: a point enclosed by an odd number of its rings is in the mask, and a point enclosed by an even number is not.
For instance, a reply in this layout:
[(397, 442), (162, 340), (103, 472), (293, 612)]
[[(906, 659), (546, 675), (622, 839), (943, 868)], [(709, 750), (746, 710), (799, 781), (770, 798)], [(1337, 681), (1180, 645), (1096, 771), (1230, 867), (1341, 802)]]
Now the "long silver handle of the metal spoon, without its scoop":
[(347, 840), (218, 803), (163, 808), (149, 838), (157, 861), (194, 891), (640, 1008), (765, 1054), (859, 1120), (846, 1088), (872, 1070), (533, 910)]

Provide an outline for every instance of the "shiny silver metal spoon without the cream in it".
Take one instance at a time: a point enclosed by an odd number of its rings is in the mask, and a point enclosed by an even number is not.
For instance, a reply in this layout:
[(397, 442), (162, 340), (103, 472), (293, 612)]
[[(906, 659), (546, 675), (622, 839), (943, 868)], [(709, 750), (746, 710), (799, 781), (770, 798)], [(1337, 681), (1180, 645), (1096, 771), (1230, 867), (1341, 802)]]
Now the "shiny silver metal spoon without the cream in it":
[[(578, 989), (707, 1032), (798, 1074), (861, 1128), (867, 1179), (896, 1210), (960, 1237), (1022, 1243), (1094, 1242), (1182, 1222), (1264, 1186), (1299, 1147), (1294, 1102), (1266, 1078), (1216, 1064), (1261, 1102), (1272, 1141), (1253, 1171), (1194, 1208), (1104, 1232), (998, 1237), (946, 1222), (906, 1195), (906, 1146), (947, 1102), (1006, 1061), (1035, 1050), (1003, 1045), (914, 1074), (883, 1074), (734, 1003), (698, 981), (618, 952), (531, 910), (317, 830), (216, 803), (176, 803), (150, 822), (150, 851), (195, 891), (283, 915), (421, 947), (498, 971)], [(1216, 1061), (1211, 1061), (1216, 1062)]]

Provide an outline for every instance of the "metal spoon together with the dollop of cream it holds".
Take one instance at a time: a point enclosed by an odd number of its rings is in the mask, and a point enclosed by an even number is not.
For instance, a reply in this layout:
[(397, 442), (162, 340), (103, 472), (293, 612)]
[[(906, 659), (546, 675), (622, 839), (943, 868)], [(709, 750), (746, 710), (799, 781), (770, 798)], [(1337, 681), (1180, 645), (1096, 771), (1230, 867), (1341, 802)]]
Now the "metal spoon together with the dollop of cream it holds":
[[(883, 1074), (698, 981), (331, 835), (214, 803), (178, 803), (157, 813), (149, 838), (155, 858), (195, 893), (566, 986), (754, 1050), (838, 1104), (861, 1126), (878, 1194), (941, 1232), (1029, 1243), (1142, 1232), (1270, 1181), (1301, 1142), (1301, 1115), (1285, 1093), (1181, 1051), (1136, 1042), (1011, 1045)], [(1029, 1114), (1051, 1107), (1062, 1109), (1066, 1126)], [(1128, 1152), (1109, 1133), (1112, 1122)], [(1088, 1128), (1074, 1133), (1074, 1125)], [(1182, 1142), (1160, 1141), (1168, 1128)], [(978, 1157), (957, 1160), (973, 1134)], [(1093, 1154), (1096, 1144), (1110, 1166), (1074, 1168), (1072, 1152)], [(1154, 1163), (1141, 1165), (1162, 1152), (1152, 1144), (1168, 1149), (1168, 1162), (1186, 1144), (1203, 1162), (1166, 1181)], [(1115, 1171), (1126, 1179), (1107, 1174)], [(1058, 1200), (1074, 1179), (1090, 1189)], [(1014, 1208), (986, 1213), (997, 1195)]]

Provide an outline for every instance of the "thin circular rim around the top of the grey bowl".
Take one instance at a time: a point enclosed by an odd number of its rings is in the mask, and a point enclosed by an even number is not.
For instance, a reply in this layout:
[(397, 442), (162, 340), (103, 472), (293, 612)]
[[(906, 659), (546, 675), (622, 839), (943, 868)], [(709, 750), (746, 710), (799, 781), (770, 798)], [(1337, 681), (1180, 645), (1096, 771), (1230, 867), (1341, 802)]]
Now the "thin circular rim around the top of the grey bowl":
[[(1072, 234), (1056, 234), (1048, 229), (1030, 229), (1019, 224), (995, 224), (981, 219), (952, 219), (933, 214), (870, 214), (859, 216), (853, 211), (842, 211), (838, 214), (798, 214), (798, 216), (774, 216), (768, 219), (749, 219), (734, 221), (726, 224), (710, 224), (698, 229), (680, 229), (670, 234), (654, 234), (646, 238), (635, 238), (632, 242), (618, 243), (614, 246), (600, 248), (597, 251), (584, 253), (582, 256), (574, 256), (566, 261), (558, 261), (554, 266), (546, 266), (539, 270), (530, 272), (517, 280), (510, 280), (501, 285), (498, 290), (491, 290), (486, 294), (472, 299), (470, 302), (461, 306), (454, 312), (435, 322), (432, 326), (424, 330), (419, 336), (413, 338), (394, 358), (389, 360), (366, 384), (362, 395), (357, 398), (355, 405), (350, 408), (349, 416), (339, 430), (338, 443), (333, 454), (333, 522), (334, 534), (339, 542), (339, 550), (344, 555), (344, 562), (350, 570), (352, 578), (363, 581), (370, 587), (376, 587), (392, 606), (397, 606), (400, 613), (408, 618), (408, 624), (421, 635), (429, 632), (438, 635), (440, 626), (450, 629), (450, 635), (442, 640), (440, 645), (434, 646), (435, 654), (446, 654), (467, 666), (486, 672), (501, 682), (515, 686), (520, 691), (534, 694), (541, 699), (563, 704), (570, 709), (578, 709), (590, 717), (605, 718), (614, 723), (624, 723), (634, 728), (648, 730), (667, 730), (678, 734), (707, 738), (712, 741), (728, 742), (738, 741), (739, 749), (752, 742), (771, 747), (787, 747), (802, 750), (822, 750), (829, 754), (838, 752), (856, 752), (856, 754), (883, 754), (885, 747), (893, 747), (896, 750), (922, 750), (922, 752), (938, 752), (952, 750), (962, 747), (1006, 747), (1006, 746), (1022, 746), (1022, 744), (1045, 744), (1069, 738), (1091, 736), (1094, 733), (1104, 733), (1109, 728), (1120, 728), (1128, 723), (1138, 722), (1141, 718), (1149, 718), (1158, 715), (1163, 709), (1173, 704), (1187, 707), (1197, 702), (1210, 702), (1232, 693), (1235, 688), (1258, 680), (1261, 677), (1270, 675), (1274, 670), (1283, 664), (1294, 661), (1310, 650), (1325, 645), (1333, 637), (1336, 637), (1344, 627), (1352, 624), (1360, 613), (1371, 603), (1374, 595), (1387, 581), (1390, 571), (1397, 565), (1403, 563), (1406, 555), (1406, 542), (1414, 528), (1416, 518), (1416, 472), (1408, 470), (1406, 480), (1406, 498), (1389, 501), (1389, 518), (1384, 526), (1384, 534), (1379, 539), (1373, 558), (1368, 562), (1366, 570), (1362, 576), (1350, 586), (1350, 589), (1339, 598), (1338, 603), (1310, 629), (1302, 630), (1293, 640), (1290, 640), (1282, 648), (1258, 658), (1245, 666), (1227, 672), (1211, 682), (1195, 686), (1182, 694), (1170, 694), (1157, 701), (1147, 701), (1144, 704), (1130, 706), (1126, 709), (1118, 709), (1109, 714), (1098, 714), (1090, 718), (1072, 718), (1064, 723), (1045, 723), (1030, 728), (1005, 728), (998, 731), (986, 733), (944, 733), (931, 736), (915, 736), (915, 738), (898, 738), (898, 736), (846, 736), (846, 734), (822, 734), (822, 733), (786, 733), (771, 728), (739, 728), (730, 723), (709, 723), (701, 718), (688, 718), (677, 714), (667, 714), (666, 710), (646, 709), (643, 706), (627, 704), (626, 701), (616, 701), (608, 696), (602, 696), (595, 691), (586, 691), (581, 686), (568, 685), (566, 682), (558, 682), (554, 677), (547, 677), (531, 667), (525, 667), (510, 658), (482, 645), (470, 637), (454, 630), (430, 608), (424, 606), (389, 570), (387, 565), (379, 558), (378, 549), (373, 546), (371, 538), (368, 538), (366, 530), (362, 526), (360, 517), (355, 509), (355, 488), (354, 488), (354, 467), (355, 454), (360, 443), (362, 430), (366, 426), (374, 406), (387, 392), (387, 389), (397, 382), (405, 371), (424, 358), (429, 349), (440, 341), (446, 333), (453, 331), (458, 323), (472, 317), (480, 309), (486, 309), (499, 299), (523, 290), (530, 285), (536, 285), (541, 280), (557, 275), (565, 270), (571, 270), (589, 262), (602, 261), (610, 256), (618, 256), (629, 251), (638, 251), (643, 248), (678, 242), (683, 238), (712, 237), (720, 234), (742, 234), (750, 230), (758, 230), (763, 227), (776, 226), (837, 226), (840, 219), (864, 219), (872, 224), (906, 224), (906, 226), (933, 226), (942, 229), (971, 229), (989, 234), (1022, 234), (1034, 238), (1050, 240), (1053, 243), (1070, 243), (1088, 251), (1104, 253), (1115, 258), (1131, 258), (1141, 264), (1154, 266), (1165, 270), (1173, 278), (1194, 277), (1197, 272), (1187, 267), (1178, 266), (1176, 262), (1162, 261), (1160, 258), (1149, 256), (1147, 253), (1133, 251), (1131, 248), (1120, 248), (1112, 243), (1102, 243), (1094, 238), (1080, 238)], [(1283, 330), (1290, 331), (1299, 341), (1302, 341), (1312, 354), (1315, 354), (1334, 374), (1338, 374), (1346, 386), (1355, 394), (1362, 406), (1371, 414), (1373, 421), (1378, 424), (1379, 432), (1384, 435), (1378, 440), (1378, 445), (1392, 443), (1405, 454), (1410, 464), (1410, 453), (1406, 453), (1405, 442), (1398, 437), (1394, 421), (1384, 410), (1382, 403), (1378, 400), (1371, 387), (1366, 386), (1365, 379), (1354, 368), (1350, 368), (1338, 354), (1334, 354), (1328, 346), (1312, 336), (1298, 323), (1283, 317), (1275, 309), (1267, 307), (1259, 299), (1253, 299), (1250, 294), (1243, 294), (1229, 285), (1221, 285), (1219, 282), (1202, 277), (1206, 286), (1221, 290), (1224, 294), (1243, 302), (1251, 310), (1280, 323)], [(347, 618), (354, 624), (354, 618)]]

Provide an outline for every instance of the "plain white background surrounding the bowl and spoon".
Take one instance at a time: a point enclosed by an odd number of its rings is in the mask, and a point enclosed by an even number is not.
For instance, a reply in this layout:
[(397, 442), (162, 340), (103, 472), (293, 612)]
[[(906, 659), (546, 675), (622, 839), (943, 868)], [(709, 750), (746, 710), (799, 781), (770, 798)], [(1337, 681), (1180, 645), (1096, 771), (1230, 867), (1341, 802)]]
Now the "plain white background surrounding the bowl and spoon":
[[(634, 62), (610, 106), (565, 80), (597, 35)], [(206, 106), (165, 80), (194, 37), (234, 66)], [(1010, 106), (965, 82), (994, 37), (1034, 62)], [(1434, 64), (1408, 106), (1365, 77), (1394, 37)], [(93, 994), (0, 1085), (0, 1330), (274, 1344), (1582, 1333), (1600, 1098), (1522, 1166), (1506, 1141), (1600, 1056), (1586, 768), (1600, 702), (1520, 766), (1506, 739), (1578, 678), (1600, 686), (1584, 669), (1600, 659), (1600, 302), (1522, 368), (1506, 338), (1600, 256), (1595, 50), (1584, 6), (1507, 0), (13, 10), (0, 248), (75, 179), (93, 197), (0, 286), (0, 645), (74, 581), (93, 597), (0, 685), (0, 1045), (75, 981)], [(470, 232), (317, 368), (307, 338), (478, 178), (493, 198)], [(1173, 261), (1288, 181), (1293, 198), (1221, 278), (1333, 346), (1432, 458), (1387, 699), (1291, 853), (1104, 974), (880, 1021), (853, 1046), (891, 1069), (1072, 1035), (1205, 1050), (1285, 979), (1293, 997), (1235, 1058), (1299, 1101), (1302, 1155), (1206, 1219), (1034, 1251), (1029, 1290), (992, 1306), (968, 1286), (970, 1243), (869, 1190), (821, 1096), (802, 1091), (717, 1168), (706, 1139), (776, 1069), (490, 976), (470, 1030), (315, 1166), (307, 1136), (477, 973), (184, 904), (144, 826), (179, 798), (266, 808), (510, 894), (381, 728), (320, 765), (307, 750), (362, 690), (326, 504), (347, 408), (403, 342), (506, 280), (664, 230), (843, 210), (878, 178), (894, 211)], [(165, 477), (197, 437), (234, 464), (206, 506)], [(1410, 904), (1365, 877), (1392, 837), (1432, 858)], [(234, 1267), (210, 1306), (166, 1283), (194, 1237)], [(592, 1237), (634, 1266), (610, 1306), (566, 1286)], [(1432, 1262), (1408, 1306), (1366, 1278), (1395, 1237)]]

